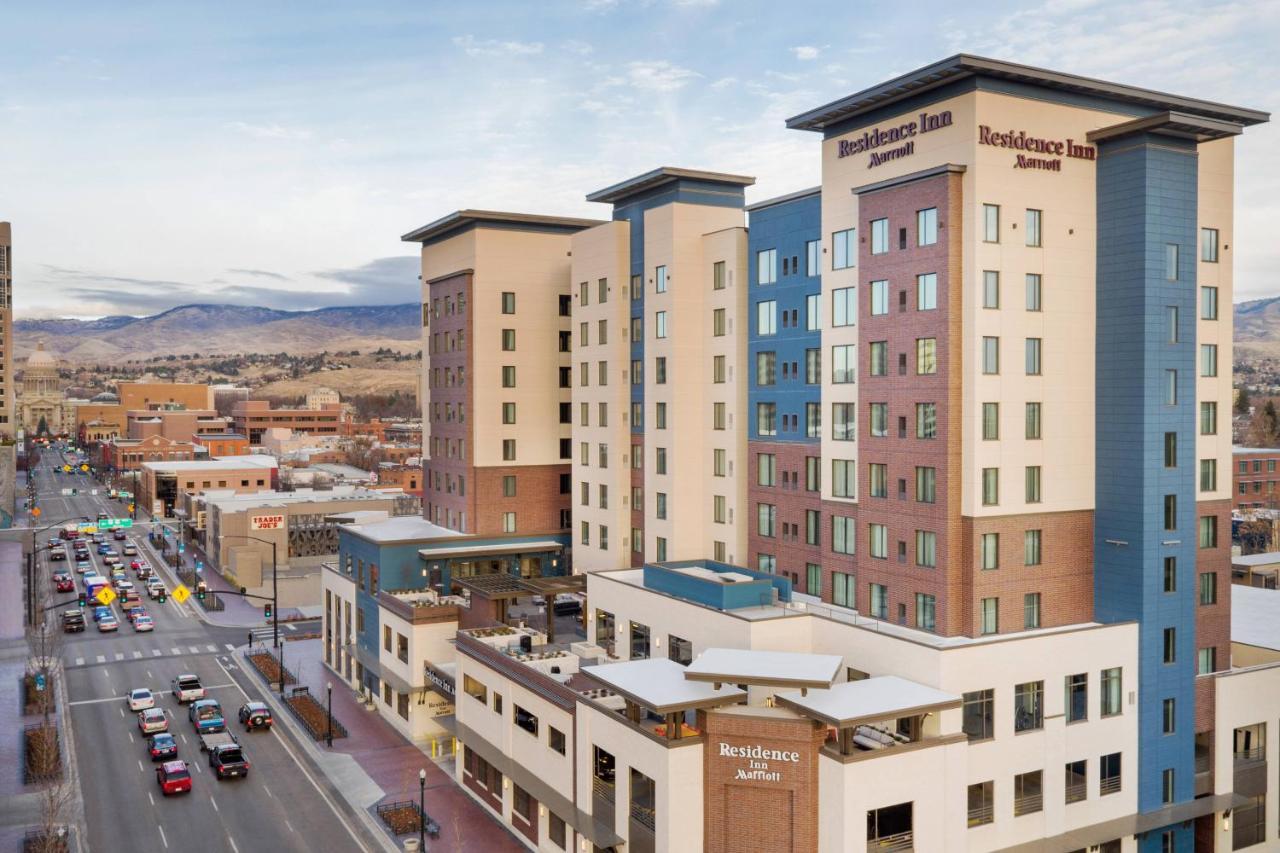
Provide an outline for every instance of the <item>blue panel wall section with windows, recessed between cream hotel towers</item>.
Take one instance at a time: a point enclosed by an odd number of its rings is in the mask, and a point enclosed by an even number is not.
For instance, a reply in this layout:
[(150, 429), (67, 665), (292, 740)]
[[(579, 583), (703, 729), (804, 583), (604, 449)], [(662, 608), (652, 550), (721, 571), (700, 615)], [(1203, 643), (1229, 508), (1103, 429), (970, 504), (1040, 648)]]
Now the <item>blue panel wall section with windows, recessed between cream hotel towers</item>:
[[(817, 442), (805, 430), (805, 405), (819, 403), (822, 400), (820, 370), (818, 384), (805, 382), (805, 351), (817, 350), (822, 353), (822, 332), (809, 329), (806, 323), (806, 300), (817, 296), (820, 305), (822, 255), (818, 255), (814, 269), (808, 264), (808, 243), (822, 236), (822, 196), (814, 192), (808, 196), (783, 201), (750, 211), (748, 231), (749, 296), (748, 323), (748, 438), (769, 442)], [(777, 251), (777, 283), (760, 284), (759, 252)], [(783, 260), (786, 264), (783, 264)], [(795, 261), (795, 263), (792, 263)], [(785, 272), (783, 272), (785, 270)], [(813, 273), (810, 275), (809, 273)], [(777, 301), (776, 334), (762, 336), (759, 329), (760, 301)], [(791, 318), (795, 318), (795, 323)], [(776, 380), (772, 386), (760, 386), (756, 375), (756, 355), (774, 352), (777, 359)], [(790, 366), (795, 365), (795, 373)], [(829, 370), (831, 365), (823, 365)], [(759, 434), (755, 418), (755, 405), (759, 402), (777, 403), (777, 435)], [(785, 426), (795, 424), (795, 426)]]

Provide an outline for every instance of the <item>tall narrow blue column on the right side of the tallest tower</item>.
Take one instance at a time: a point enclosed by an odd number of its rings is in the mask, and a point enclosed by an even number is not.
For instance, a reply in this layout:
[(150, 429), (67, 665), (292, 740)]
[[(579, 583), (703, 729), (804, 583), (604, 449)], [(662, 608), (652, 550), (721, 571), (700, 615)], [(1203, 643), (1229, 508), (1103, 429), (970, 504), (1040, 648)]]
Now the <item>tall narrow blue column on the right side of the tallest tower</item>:
[[(1164, 771), (1174, 799), (1194, 797), (1196, 716), (1196, 147), (1130, 136), (1098, 146), (1094, 607), (1098, 621), (1137, 620), (1138, 808), (1162, 808)], [(1176, 280), (1166, 273), (1178, 247)], [(1176, 309), (1176, 337), (1171, 334)], [(1176, 371), (1171, 374), (1169, 371)], [(1176, 400), (1169, 397), (1174, 379)], [(1166, 434), (1176, 441), (1166, 466)], [(1165, 500), (1174, 496), (1174, 529)], [(1165, 558), (1176, 590), (1165, 592)], [(1165, 662), (1165, 630), (1176, 631)], [(1164, 702), (1176, 725), (1164, 731)], [(1190, 829), (1178, 827), (1178, 849)], [(1181, 838), (1185, 835), (1185, 838)], [(1142, 849), (1158, 849), (1151, 834)], [(1155, 844), (1155, 848), (1151, 845)]]

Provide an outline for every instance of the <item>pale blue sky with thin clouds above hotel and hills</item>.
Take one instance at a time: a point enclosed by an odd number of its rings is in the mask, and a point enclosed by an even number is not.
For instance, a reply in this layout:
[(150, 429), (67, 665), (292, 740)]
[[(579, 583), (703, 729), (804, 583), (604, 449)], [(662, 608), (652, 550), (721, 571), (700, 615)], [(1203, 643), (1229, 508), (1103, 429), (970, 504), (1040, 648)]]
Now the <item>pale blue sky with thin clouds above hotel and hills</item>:
[[(15, 315), (411, 302), (461, 207), (603, 218), (658, 165), (819, 183), (786, 118), (956, 53), (1280, 110), (1280, 3), (10, 4)], [(1280, 131), (1236, 142), (1235, 300), (1280, 293)]]

